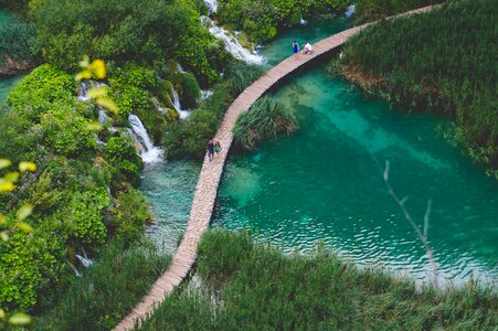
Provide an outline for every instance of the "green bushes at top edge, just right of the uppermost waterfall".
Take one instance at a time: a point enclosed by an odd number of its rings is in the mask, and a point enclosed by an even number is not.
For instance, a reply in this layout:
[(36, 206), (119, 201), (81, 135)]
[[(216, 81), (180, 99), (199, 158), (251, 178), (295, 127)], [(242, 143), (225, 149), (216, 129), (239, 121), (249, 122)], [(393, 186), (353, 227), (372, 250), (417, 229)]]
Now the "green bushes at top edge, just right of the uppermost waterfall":
[(348, 4), (349, 0), (221, 0), (216, 18), (259, 43), (275, 38), (285, 24), (298, 24), (301, 14), (342, 13)]

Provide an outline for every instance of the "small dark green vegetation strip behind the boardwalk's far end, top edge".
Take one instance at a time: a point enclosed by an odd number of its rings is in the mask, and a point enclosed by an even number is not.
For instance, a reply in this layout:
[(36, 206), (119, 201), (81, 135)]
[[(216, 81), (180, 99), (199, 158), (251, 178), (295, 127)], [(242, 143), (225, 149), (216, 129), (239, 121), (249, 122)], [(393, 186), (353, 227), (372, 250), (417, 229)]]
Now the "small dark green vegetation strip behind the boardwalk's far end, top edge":
[(357, 18), (361, 21), (374, 21), (415, 8), (441, 3), (444, 0), (357, 0)]

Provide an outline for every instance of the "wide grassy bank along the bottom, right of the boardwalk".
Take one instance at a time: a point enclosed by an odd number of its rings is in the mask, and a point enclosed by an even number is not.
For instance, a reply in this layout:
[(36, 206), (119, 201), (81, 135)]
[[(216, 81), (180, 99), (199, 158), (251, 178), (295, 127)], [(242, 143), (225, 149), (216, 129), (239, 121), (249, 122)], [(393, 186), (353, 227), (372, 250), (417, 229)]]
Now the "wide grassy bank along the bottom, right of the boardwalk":
[(142, 330), (487, 330), (498, 298), (467, 284), (441, 293), (379, 270), (360, 270), (326, 249), (284, 255), (246, 233), (208, 232), (202, 289), (169, 297)]

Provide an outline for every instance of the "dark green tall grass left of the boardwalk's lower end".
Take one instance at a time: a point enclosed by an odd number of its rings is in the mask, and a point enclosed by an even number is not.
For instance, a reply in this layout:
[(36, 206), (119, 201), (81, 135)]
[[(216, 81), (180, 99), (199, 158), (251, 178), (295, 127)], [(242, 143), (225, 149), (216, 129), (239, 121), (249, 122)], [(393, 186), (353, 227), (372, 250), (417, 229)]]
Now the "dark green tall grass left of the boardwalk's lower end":
[(103, 248), (98, 260), (73, 277), (46, 302), (51, 310), (35, 330), (110, 330), (147, 293), (169, 265), (152, 244), (126, 249), (120, 241)]

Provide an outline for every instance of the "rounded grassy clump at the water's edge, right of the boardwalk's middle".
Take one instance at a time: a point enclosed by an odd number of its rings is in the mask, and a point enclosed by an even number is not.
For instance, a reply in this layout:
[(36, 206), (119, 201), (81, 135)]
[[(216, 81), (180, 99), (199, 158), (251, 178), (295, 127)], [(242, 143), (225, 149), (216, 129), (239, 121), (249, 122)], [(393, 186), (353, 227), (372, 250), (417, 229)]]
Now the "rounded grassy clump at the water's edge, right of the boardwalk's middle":
[(290, 110), (264, 96), (237, 118), (233, 135), (236, 145), (254, 150), (268, 138), (290, 135), (298, 128), (297, 119)]

